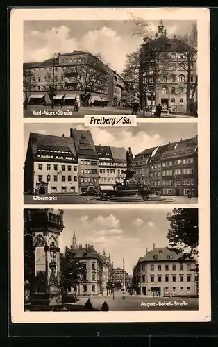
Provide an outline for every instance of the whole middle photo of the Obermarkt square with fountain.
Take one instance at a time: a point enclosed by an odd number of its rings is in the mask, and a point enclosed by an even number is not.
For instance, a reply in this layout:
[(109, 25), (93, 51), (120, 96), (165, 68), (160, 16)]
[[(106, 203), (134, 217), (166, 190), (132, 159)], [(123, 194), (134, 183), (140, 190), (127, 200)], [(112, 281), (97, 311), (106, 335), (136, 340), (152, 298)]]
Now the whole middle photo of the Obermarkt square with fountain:
[(196, 204), (196, 123), (24, 124), (24, 203)]

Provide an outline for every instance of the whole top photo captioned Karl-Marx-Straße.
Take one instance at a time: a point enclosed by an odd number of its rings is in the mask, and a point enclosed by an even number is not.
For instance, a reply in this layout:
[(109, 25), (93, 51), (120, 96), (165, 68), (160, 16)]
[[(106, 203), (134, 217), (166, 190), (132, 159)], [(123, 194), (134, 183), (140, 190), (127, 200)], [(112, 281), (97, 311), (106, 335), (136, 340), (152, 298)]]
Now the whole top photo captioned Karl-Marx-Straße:
[(196, 21), (24, 21), (25, 118), (195, 118), (197, 77)]

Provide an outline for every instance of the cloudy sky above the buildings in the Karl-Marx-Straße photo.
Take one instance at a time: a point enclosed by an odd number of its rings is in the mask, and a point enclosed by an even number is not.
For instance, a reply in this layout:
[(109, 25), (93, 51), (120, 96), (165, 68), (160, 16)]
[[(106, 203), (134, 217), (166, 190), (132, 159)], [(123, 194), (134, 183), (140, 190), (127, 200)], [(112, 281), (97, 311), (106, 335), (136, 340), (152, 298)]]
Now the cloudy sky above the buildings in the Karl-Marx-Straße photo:
[[(101, 53), (105, 62), (119, 74), (124, 69), (126, 55), (143, 43), (144, 35), (156, 33), (158, 21), (25, 21), (24, 62), (42, 62), (54, 53), (74, 50)], [(192, 28), (192, 21), (163, 21), (167, 37), (183, 36)], [(138, 33), (140, 28), (140, 35)]]

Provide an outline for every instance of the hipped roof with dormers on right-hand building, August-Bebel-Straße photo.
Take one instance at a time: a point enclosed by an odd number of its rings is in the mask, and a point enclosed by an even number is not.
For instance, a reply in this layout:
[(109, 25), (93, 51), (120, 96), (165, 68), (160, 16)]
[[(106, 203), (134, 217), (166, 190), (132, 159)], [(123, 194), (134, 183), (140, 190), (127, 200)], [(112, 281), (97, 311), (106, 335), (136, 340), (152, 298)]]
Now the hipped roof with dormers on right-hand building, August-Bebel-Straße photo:
[(173, 251), (169, 251), (167, 247), (154, 248), (144, 257), (140, 257), (138, 262), (162, 262), (162, 261), (175, 261), (178, 260), (183, 253), (176, 254)]

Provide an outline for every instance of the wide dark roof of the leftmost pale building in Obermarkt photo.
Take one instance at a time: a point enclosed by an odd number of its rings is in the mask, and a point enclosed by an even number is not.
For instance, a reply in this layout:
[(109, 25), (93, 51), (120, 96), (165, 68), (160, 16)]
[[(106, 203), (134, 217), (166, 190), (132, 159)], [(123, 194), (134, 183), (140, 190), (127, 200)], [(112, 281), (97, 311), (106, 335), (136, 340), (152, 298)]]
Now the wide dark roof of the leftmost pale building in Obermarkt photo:
[(37, 158), (37, 151), (40, 149), (50, 151), (68, 151), (71, 152), (73, 157), (76, 159), (74, 141), (68, 137), (30, 133), (29, 143), (31, 145), (34, 159)]

